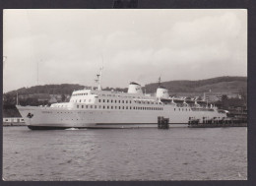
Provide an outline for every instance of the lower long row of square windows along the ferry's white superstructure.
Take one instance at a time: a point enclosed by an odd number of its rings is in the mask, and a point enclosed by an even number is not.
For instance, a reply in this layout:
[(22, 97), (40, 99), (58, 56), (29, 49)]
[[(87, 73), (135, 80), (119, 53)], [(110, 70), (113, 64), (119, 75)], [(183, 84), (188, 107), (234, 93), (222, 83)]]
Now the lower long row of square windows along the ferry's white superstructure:
[(130, 110), (162, 110), (160, 107), (142, 106), (106, 106), (106, 105), (77, 105), (77, 108), (98, 108), (98, 109), (130, 109)]

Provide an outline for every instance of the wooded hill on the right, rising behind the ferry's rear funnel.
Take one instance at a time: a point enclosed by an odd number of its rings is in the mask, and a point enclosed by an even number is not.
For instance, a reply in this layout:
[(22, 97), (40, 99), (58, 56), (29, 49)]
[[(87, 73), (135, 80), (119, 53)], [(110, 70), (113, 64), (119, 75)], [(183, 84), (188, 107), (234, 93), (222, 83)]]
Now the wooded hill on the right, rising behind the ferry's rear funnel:
[[(198, 81), (168, 81), (160, 84), (170, 93), (239, 93), (247, 92), (247, 77), (218, 77)], [(154, 93), (158, 83), (146, 85), (147, 93)]]

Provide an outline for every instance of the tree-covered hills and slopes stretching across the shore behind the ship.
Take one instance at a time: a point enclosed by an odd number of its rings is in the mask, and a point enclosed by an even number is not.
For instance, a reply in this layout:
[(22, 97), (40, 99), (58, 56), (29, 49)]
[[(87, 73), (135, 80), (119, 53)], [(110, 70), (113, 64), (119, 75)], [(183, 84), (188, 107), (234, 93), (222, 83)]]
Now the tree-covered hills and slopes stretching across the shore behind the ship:
[[(219, 77), (199, 81), (168, 81), (162, 82), (161, 86), (169, 90), (169, 94), (180, 96), (196, 96), (202, 93), (213, 94), (232, 94), (239, 93), (243, 97), (247, 97), (247, 78), (246, 77)], [(147, 93), (156, 93), (159, 84), (153, 83), (145, 86)], [(145, 92), (143, 87), (143, 92)], [(67, 95), (71, 95), (74, 90), (82, 90), (85, 86), (78, 84), (61, 84), (61, 85), (45, 85), (34, 86), (32, 88), (22, 88), (9, 93), (4, 93), (3, 115), (4, 117), (19, 116), (18, 110), (15, 108), (17, 102), (16, 96), (19, 93), (19, 103), (21, 105), (40, 105), (48, 104), (50, 94), (58, 95), (65, 99)], [(127, 88), (103, 88), (105, 91), (116, 90), (127, 93)], [(182, 95), (184, 96), (184, 95)], [(62, 101), (63, 101), (62, 100)], [(65, 99), (65, 101), (68, 101)]]

